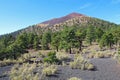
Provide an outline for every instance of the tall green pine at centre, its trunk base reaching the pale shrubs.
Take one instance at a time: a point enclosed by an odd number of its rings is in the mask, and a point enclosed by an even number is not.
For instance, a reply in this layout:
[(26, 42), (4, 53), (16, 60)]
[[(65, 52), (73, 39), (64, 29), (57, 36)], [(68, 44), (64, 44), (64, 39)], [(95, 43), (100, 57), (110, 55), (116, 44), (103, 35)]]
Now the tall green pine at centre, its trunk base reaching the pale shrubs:
[(61, 48), (64, 48), (66, 51), (69, 50), (71, 53), (71, 48), (75, 47), (76, 36), (74, 27), (65, 27), (61, 33)]

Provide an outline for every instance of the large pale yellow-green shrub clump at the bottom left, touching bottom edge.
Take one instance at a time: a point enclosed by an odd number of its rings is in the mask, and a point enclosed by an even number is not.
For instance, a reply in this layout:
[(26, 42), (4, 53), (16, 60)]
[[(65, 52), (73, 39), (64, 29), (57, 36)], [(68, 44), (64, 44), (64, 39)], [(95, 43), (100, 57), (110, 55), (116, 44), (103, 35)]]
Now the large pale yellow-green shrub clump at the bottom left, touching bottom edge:
[(14, 65), (10, 71), (11, 80), (39, 80), (39, 73), (34, 73), (36, 64)]

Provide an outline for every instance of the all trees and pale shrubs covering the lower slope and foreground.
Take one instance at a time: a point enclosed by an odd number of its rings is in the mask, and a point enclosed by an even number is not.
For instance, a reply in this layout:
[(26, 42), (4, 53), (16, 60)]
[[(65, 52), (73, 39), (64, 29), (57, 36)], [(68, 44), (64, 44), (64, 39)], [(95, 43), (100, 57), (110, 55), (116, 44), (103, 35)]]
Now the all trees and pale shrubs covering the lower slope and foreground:
[[(81, 21), (85, 21), (84, 24)], [(46, 77), (55, 75), (58, 66), (94, 70), (95, 66), (88, 58), (115, 56), (120, 61), (120, 52), (105, 52), (120, 47), (120, 27), (117, 26), (90, 17), (74, 18), (57, 25), (48, 24), (40, 29), (39, 25), (33, 25), (30, 31), (0, 38), (0, 67), (14, 65), (10, 71), (11, 80), (39, 80), (41, 73)], [(99, 49), (95, 49), (94, 43)], [(29, 50), (33, 52), (29, 53)], [(40, 71), (37, 72), (37, 69)], [(81, 79), (72, 77), (69, 80)]]

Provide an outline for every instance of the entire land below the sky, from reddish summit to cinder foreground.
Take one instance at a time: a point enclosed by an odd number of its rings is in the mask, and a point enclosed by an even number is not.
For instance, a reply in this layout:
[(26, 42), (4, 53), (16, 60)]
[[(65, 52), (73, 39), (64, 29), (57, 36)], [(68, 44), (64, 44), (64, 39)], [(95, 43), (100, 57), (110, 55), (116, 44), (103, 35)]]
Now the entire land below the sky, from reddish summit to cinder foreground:
[(0, 39), (0, 80), (120, 79), (114, 23), (71, 13), (11, 35)]

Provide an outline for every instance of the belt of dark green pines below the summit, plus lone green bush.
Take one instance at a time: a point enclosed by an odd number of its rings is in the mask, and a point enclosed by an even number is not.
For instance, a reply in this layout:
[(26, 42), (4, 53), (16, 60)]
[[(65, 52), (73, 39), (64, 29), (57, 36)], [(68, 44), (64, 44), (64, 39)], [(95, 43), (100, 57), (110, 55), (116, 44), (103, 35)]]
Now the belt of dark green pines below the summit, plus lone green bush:
[[(71, 50), (77, 48), (81, 51), (85, 40), (89, 44), (99, 42), (100, 47), (111, 48), (114, 44), (120, 46), (120, 27), (117, 27), (116, 24), (90, 17), (84, 17), (82, 20), (85, 20), (86, 23), (81, 24), (79, 20), (74, 20), (74, 26), (68, 26), (69, 23), (57, 27), (52, 26), (54, 31), (50, 25), (43, 28), (33, 25), (22, 31), (25, 33), (17, 34), (15, 37), (2, 36), (0, 38), (0, 59), (16, 59), (26, 50), (38, 50), (40, 46), (44, 50), (64, 49), (72, 53)], [(55, 54), (49, 55), (45, 61), (56, 62)]]

